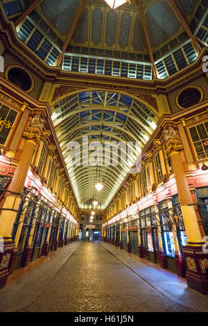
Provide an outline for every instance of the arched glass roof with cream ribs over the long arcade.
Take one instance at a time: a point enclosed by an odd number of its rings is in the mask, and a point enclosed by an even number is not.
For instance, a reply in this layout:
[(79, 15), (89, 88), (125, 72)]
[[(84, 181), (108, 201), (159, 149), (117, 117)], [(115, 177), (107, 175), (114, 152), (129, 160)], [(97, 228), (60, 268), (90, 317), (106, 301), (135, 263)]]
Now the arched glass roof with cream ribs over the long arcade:
[[(100, 179), (105, 181), (103, 189), (99, 195), (97, 194), (98, 200), (102, 207), (107, 207), (125, 175), (135, 164), (141, 148), (155, 130), (158, 121), (157, 114), (146, 104), (130, 96), (101, 91), (81, 92), (67, 96), (56, 103), (52, 111), (53, 125), (78, 204), (82, 206), (95, 194), (95, 176), (98, 169)], [(83, 136), (87, 137), (89, 142), (89, 156), (94, 152), (95, 148), (93, 146), (90, 148), (94, 141), (99, 141), (103, 146), (98, 164), (94, 166), (90, 165), (89, 161), (87, 166), (83, 162), (85, 159), (83, 153), (86, 153), (83, 147)], [(76, 164), (71, 164), (69, 144), (72, 141), (80, 144), (81, 155), (80, 160), (74, 160)], [(115, 145), (110, 153), (111, 164), (106, 166), (104, 147), (109, 141), (114, 141)], [(116, 144), (119, 141), (123, 141), (126, 145), (129, 142), (132, 146), (135, 142), (139, 142), (140, 152), (132, 151), (126, 164), (121, 162), (123, 152), (120, 148), (118, 162), (114, 161), (113, 151), (117, 150)]]

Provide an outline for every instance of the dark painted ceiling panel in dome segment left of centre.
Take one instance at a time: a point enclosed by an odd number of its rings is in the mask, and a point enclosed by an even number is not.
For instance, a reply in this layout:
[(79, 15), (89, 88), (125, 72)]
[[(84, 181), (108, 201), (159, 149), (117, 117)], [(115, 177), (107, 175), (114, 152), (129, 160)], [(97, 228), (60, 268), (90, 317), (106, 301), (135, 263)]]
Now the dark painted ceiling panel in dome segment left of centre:
[(78, 0), (46, 0), (42, 12), (60, 33), (66, 34), (78, 4)]

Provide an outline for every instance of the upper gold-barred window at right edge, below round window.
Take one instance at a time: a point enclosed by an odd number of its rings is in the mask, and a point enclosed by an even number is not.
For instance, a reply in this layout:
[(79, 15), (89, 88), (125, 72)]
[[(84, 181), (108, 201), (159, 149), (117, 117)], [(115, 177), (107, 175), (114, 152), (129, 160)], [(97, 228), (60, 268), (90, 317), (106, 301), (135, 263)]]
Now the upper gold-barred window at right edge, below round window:
[(189, 128), (189, 132), (198, 159), (208, 157), (208, 121)]

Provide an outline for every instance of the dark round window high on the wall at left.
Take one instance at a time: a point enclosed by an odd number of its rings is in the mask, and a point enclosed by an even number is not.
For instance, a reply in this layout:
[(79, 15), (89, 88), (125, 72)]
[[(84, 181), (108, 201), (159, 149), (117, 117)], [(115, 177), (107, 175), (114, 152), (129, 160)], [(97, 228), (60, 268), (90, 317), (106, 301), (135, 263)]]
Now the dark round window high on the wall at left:
[(28, 91), (32, 87), (31, 77), (20, 68), (10, 69), (8, 71), (8, 80), (24, 91)]

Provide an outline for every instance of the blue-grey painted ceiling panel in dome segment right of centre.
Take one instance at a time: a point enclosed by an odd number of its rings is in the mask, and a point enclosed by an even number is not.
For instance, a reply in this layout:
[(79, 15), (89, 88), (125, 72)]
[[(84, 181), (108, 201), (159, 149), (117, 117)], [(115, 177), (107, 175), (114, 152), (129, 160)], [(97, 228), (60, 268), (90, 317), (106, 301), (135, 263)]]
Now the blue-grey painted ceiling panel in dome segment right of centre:
[(179, 30), (179, 24), (164, 1), (157, 1), (146, 13), (150, 39), (157, 47)]

